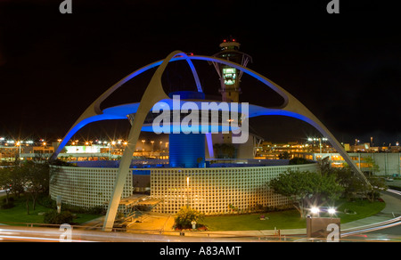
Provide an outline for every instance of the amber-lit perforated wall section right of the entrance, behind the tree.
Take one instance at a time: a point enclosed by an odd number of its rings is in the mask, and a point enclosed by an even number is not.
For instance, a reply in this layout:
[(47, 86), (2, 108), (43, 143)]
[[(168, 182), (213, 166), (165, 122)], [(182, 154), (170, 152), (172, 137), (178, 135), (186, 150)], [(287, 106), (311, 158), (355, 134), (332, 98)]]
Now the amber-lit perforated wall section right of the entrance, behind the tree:
[(316, 171), (317, 164), (268, 167), (154, 169), (151, 197), (160, 199), (154, 211), (175, 214), (189, 206), (205, 215), (252, 213), (282, 207), (289, 201), (267, 183), (288, 170)]

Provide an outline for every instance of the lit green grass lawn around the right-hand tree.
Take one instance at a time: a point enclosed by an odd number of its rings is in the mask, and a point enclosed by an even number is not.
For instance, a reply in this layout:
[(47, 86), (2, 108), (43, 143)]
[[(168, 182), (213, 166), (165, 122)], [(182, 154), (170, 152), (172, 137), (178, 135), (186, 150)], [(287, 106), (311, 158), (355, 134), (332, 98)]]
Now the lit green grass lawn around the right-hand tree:
[[(383, 202), (377, 201), (371, 203), (366, 200), (358, 200), (356, 202), (340, 200), (337, 205), (339, 211), (337, 217), (340, 217), (341, 223), (348, 223), (375, 215), (381, 212), (386, 206)], [(342, 213), (346, 208), (355, 211), (356, 215)], [(260, 215), (265, 215), (266, 220), (260, 220)], [(274, 230), (274, 227), (282, 230), (307, 227), (306, 220), (300, 218), (299, 212), (296, 209), (250, 215), (206, 216), (204, 223), (208, 226), (209, 231)]]

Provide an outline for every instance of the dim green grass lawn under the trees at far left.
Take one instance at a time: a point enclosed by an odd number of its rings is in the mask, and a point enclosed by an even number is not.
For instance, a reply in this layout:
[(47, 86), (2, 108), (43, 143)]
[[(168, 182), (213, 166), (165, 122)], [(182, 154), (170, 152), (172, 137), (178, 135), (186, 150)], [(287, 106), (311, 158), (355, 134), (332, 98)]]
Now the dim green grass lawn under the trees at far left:
[[(1, 198), (3, 199), (3, 197)], [(25, 204), (25, 198), (21, 196), (20, 199), (14, 199), (15, 207), (8, 209), (0, 209), (0, 223), (12, 224), (13, 223), (43, 223), (44, 215), (38, 215), (41, 212), (47, 212), (52, 210), (48, 207), (43, 207), (37, 203), (35, 210), (33, 210), (32, 199), (29, 200), (29, 215), (27, 214), (27, 207)], [(76, 223), (85, 223), (86, 221), (92, 220), (100, 215), (90, 214), (77, 214), (77, 218), (74, 219)]]

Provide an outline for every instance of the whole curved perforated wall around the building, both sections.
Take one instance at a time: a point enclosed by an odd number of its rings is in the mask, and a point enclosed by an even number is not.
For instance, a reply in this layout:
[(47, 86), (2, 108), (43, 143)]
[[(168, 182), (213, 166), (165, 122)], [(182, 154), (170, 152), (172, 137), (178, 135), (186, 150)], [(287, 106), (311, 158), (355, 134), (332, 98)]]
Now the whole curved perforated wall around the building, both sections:
[[(239, 165), (238, 165), (239, 166)], [(298, 166), (250, 166), (206, 168), (137, 168), (129, 170), (122, 199), (134, 191), (134, 175), (148, 175), (151, 199), (159, 202), (152, 211), (176, 214), (190, 206), (205, 215), (251, 213), (263, 207), (282, 207), (288, 199), (266, 185), (289, 170), (316, 171), (317, 164)], [(107, 208), (118, 168), (59, 167), (51, 181), (52, 199), (78, 207)], [(120, 205), (120, 212), (129, 212)]]

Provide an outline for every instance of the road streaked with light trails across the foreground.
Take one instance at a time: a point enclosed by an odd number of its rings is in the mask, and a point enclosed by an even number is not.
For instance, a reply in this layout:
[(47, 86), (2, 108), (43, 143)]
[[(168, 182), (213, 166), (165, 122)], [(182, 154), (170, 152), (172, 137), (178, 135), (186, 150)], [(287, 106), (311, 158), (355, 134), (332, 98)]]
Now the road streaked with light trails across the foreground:
[[(401, 191), (386, 192), (388, 204), (383, 210), (384, 214), (401, 215)], [(390, 196), (390, 198), (389, 198)], [(381, 226), (369, 225), (355, 231), (348, 236), (342, 237), (342, 240), (361, 241), (361, 240), (380, 240), (380, 241), (401, 241), (401, 216), (397, 217), (397, 222), (388, 221)], [(129, 232), (100, 232), (85, 229), (71, 228), (68, 225), (65, 228), (38, 228), (0, 225), (0, 241), (35, 241), (35, 242), (92, 242), (92, 241), (110, 241), (110, 242), (241, 242), (241, 241), (266, 241), (277, 240), (274, 237), (187, 237), (178, 235), (163, 234), (145, 234)], [(291, 240), (288, 238), (287, 241)], [(295, 240), (295, 238), (294, 238)], [(304, 239), (305, 240), (305, 239)]]

